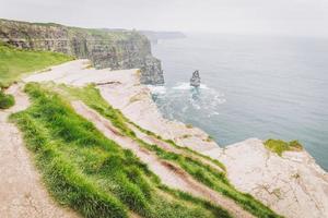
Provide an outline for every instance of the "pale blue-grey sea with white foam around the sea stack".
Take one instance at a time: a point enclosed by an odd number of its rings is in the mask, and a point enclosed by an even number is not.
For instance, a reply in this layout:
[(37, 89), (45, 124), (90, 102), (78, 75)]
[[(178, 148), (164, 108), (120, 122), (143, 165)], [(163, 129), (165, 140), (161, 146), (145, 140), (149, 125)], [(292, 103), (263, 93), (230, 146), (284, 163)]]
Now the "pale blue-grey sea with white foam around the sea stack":
[[(220, 146), (248, 137), (298, 140), (328, 169), (328, 39), (187, 35), (161, 40), (165, 86), (151, 87), (165, 118)], [(202, 85), (189, 80), (199, 70)]]

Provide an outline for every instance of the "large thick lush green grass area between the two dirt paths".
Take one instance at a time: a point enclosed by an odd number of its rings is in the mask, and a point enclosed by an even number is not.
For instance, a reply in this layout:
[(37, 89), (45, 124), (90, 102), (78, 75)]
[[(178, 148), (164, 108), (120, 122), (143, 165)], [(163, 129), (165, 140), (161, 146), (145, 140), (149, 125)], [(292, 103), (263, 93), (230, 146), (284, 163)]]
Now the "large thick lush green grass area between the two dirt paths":
[[(219, 206), (161, 184), (130, 150), (77, 114), (67, 98), (34, 83), (25, 92), (32, 106), (11, 120), (60, 204), (84, 217), (128, 217), (130, 210), (154, 218), (231, 217)], [(119, 120), (116, 112), (106, 114)]]

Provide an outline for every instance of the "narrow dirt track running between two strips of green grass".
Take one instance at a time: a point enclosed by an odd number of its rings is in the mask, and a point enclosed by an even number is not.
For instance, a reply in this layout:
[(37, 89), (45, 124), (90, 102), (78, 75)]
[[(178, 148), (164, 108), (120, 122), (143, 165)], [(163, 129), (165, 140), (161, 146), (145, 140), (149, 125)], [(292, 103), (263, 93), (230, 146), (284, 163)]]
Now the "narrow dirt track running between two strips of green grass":
[(253, 217), (248, 211), (241, 208), (235, 202), (212, 191), (206, 185), (194, 180), (188, 173), (171, 162), (160, 160), (155, 155), (139, 146), (129, 137), (119, 134), (112, 123), (99, 116), (96, 111), (86, 107), (82, 101), (73, 101), (75, 111), (93, 122), (105, 136), (115, 141), (124, 148), (131, 149), (149, 168), (156, 173), (162, 182), (171, 187), (191, 193), (195, 196), (213, 202), (229, 210), (234, 217)]

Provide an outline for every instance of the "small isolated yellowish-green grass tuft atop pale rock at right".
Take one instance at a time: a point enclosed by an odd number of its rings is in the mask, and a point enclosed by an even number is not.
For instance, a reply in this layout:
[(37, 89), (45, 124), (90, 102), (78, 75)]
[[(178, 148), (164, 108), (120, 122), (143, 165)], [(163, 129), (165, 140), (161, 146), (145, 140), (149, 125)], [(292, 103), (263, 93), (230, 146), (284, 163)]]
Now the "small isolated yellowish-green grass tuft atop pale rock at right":
[(286, 150), (302, 150), (303, 146), (298, 141), (284, 142), (282, 140), (267, 140), (265, 146), (279, 156)]

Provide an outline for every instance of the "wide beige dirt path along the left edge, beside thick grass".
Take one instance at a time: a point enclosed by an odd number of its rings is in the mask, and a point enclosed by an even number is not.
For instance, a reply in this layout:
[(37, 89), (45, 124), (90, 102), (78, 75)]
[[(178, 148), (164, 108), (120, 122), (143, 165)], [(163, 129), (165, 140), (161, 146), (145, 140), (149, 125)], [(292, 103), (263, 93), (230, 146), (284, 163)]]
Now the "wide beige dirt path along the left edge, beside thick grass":
[(21, 92), (19, 85), (11, 86), (8, 93), (15, 96), (16, 102), (11, 109), (0, 110), (0, 217), (78, 217), (49, 197), (22, 135), (14, 124), (8, 122), (10, 113), (28, 107), (27, 96)]

